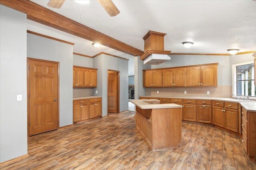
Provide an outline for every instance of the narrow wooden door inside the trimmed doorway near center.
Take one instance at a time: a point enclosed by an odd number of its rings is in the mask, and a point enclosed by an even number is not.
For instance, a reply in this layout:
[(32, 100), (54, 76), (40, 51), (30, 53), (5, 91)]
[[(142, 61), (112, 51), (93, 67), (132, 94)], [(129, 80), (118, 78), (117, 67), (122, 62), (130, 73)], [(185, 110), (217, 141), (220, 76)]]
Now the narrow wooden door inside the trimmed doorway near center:
[(117, 72), (108, 73), (108, 113), (117, 113)]

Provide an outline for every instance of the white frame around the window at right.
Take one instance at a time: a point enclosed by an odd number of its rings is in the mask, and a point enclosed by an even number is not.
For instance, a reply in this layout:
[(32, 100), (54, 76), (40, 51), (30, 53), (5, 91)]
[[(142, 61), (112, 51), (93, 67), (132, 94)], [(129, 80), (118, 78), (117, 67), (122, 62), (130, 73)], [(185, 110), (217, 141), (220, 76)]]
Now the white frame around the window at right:
[[(238, 63), (238, 64), (232, 64), (232, 97), (233, 98), (244, 98), (244, 99), (247, 99), (246, 96), (237, 96), (237, 84), (236, 84), (236, 78), (237, 78), (237, 75), (236, 75), (236, 66), (241, 66), (241, 65), (246, 65), (246, 64), (254, 64), (253, 61), (250, 61), (250, 62), (246, 62), (246, 63)], [(255, 68), (254, 68), (255, 69)], [(254, 80), (255, 81), (255, 80)], [(249, 96), (249, 99), (253, 99), (253, 100), (256, 100), (256, 96)]]

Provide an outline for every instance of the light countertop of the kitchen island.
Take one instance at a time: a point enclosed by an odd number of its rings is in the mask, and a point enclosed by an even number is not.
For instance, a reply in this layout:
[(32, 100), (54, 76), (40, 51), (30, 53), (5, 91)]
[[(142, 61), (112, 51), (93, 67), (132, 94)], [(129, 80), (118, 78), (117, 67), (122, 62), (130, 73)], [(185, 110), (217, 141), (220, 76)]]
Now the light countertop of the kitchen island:
[(155, 104), (155, 102), (159, 102), (160, 100), (156, 99), (145, 99), (145, 100), (129, 100), (136, 106), (140, 107), (141, 109), (164, 109), (164, 108), (181, 108), (181, 105), (178, 104)]

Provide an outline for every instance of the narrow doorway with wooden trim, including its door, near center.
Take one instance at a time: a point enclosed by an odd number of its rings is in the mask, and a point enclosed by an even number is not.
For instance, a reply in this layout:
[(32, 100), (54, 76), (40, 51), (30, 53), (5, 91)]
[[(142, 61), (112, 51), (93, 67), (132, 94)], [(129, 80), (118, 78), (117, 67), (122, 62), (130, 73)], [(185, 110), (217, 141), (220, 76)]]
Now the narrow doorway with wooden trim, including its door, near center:
[(108, 70), (108, 113), (120, 113), (119, 84), (119, 71)]

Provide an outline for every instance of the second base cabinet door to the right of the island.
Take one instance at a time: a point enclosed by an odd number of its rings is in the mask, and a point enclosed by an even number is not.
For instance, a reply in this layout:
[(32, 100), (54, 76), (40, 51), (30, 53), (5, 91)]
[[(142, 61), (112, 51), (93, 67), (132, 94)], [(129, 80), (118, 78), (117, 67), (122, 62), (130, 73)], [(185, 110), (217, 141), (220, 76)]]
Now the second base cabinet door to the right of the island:
[(202, 123), (212, 123), (212, 106), (197, 105), (196, 121)]

